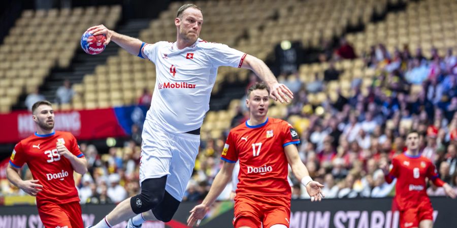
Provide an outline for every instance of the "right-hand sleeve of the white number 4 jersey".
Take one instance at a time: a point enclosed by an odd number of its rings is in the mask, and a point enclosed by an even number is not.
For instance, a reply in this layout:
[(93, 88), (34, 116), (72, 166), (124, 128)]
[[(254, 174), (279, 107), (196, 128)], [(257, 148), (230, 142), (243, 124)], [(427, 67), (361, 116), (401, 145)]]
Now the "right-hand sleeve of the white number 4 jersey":
[(206, 43), (202, 45), (207, 47), (206, 54), (211, 60), (214, 67), (232, 66), (241, 67), (246, 54), (224, 44)]

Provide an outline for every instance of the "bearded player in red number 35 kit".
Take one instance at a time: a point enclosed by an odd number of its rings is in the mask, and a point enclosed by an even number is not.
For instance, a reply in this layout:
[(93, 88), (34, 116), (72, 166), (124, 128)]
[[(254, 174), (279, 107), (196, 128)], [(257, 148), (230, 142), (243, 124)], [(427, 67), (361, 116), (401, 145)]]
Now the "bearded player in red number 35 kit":
[[(54, 111), (48, 101), (32, 106), (37, 132), (16, 144), (7, 167), (11, 183), (37, 197), (38, 213), (48, 228), (83, 228), (78, 191), (73, 171), (87, 172), (87, 161), (75, 137), (54, 131)], [(19, 172), (26, 163), (33, 176), (22, 180)]]

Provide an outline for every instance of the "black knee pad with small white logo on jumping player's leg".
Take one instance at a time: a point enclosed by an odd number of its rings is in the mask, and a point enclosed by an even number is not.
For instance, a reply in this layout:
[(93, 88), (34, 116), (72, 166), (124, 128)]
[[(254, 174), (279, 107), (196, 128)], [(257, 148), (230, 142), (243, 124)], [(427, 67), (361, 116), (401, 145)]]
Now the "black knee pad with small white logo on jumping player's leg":
[(141, 182), (141, 194), (130, 198), (130, 207), (135, 214), (156, 207), (164, 199), (167, 176), (150, 178)]

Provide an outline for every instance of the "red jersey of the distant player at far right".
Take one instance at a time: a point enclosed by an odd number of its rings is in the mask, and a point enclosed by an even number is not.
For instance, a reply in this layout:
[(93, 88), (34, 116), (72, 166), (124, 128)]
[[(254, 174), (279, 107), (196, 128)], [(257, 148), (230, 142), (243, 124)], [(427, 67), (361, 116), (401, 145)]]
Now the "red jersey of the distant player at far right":
[(426, 192), (426, 177), (437, 186), (444, 184), (438, 178), (435, 165), (426, 157), (413, 157), (403, 153), (392, 160), (390, 172), (385, 176), (385, 180), (391, 183), (394, 178), (398, 178), (395, 200), (400, 210), (417, 207), (421, 202), (430, 202)]

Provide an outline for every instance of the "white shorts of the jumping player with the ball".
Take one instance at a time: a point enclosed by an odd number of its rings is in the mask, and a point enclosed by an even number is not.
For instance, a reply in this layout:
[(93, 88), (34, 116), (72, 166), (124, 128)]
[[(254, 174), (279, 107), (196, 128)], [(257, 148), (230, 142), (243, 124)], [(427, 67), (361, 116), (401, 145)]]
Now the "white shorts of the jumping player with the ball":
[(200, 135), (168, 132), (146, 120), (142, 138), (140, 186), (145, 179), (168, 175), (165, 190), (182, 201), (199, 153)]

